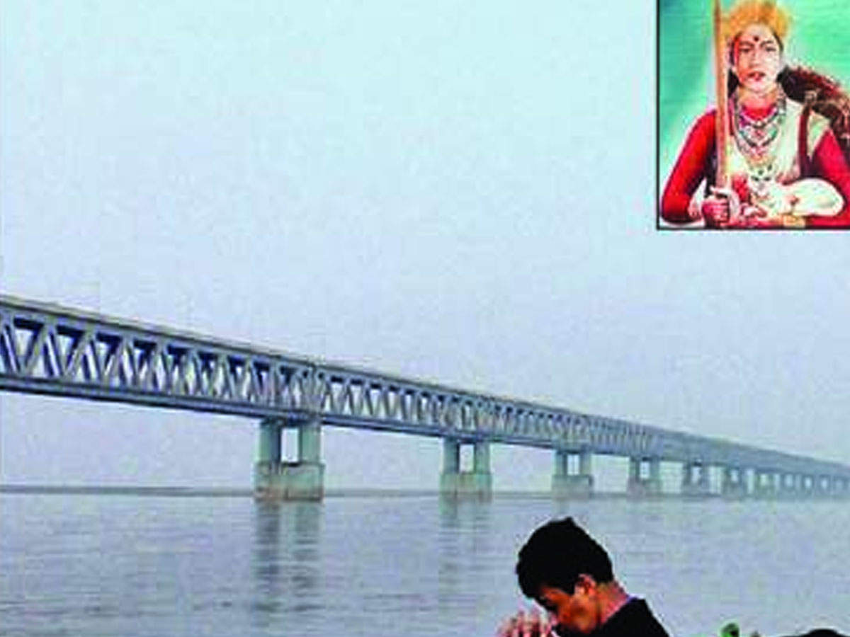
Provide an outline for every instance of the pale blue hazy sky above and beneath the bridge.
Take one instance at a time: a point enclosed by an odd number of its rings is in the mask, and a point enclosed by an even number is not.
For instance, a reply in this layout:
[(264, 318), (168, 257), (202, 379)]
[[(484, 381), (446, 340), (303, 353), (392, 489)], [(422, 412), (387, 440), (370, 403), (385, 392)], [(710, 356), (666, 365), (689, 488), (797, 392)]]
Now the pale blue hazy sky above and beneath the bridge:
[[(655, 2), (4, 0), (0, 47), (6, 293), (850, 462), (850, 234), (655, 230)], [(250, 485), (251, 420), (0, 400), (2, 482)], [(325, 431), (328, 487), (437, 484)]]

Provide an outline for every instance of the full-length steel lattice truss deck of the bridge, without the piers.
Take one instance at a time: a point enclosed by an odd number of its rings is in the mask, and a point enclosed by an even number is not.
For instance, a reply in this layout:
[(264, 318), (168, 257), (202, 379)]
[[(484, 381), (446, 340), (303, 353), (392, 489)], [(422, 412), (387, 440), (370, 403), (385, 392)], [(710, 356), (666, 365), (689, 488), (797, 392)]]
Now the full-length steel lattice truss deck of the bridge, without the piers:
[(850, 477), (850, 467), (0, 296), (0, 390), (462, 442)]

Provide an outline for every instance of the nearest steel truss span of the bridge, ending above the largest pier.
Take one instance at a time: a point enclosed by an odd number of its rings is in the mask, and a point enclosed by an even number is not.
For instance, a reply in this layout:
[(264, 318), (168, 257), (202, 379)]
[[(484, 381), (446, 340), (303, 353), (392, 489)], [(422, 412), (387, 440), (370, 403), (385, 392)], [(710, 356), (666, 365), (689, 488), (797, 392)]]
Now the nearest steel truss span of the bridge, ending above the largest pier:
[(0, 302), (0, 382), (22, 392), (234, 414), (309, 410), (314, 364), (64, 308)]

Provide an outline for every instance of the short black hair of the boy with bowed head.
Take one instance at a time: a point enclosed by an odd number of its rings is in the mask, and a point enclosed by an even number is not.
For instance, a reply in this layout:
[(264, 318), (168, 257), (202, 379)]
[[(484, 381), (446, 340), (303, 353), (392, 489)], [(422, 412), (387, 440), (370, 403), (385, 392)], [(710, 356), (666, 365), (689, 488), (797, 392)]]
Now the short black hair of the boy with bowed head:
[(608, 553), (571, 517), (547, 522), (519, 550), (519, 588), (531, 599), (540, 595), (541, 584), (572, 595), (581, 574), (598, 583), (614, 579)]

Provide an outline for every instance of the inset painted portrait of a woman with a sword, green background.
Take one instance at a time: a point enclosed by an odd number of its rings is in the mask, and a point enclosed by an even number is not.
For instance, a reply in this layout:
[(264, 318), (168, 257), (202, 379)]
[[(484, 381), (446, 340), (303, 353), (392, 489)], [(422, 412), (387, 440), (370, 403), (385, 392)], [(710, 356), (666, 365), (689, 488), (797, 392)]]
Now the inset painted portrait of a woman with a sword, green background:
[(657, 227), (850, 229), (850, 3), (660, 0)]

